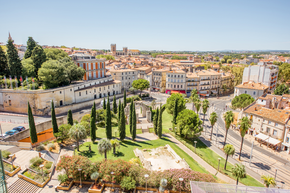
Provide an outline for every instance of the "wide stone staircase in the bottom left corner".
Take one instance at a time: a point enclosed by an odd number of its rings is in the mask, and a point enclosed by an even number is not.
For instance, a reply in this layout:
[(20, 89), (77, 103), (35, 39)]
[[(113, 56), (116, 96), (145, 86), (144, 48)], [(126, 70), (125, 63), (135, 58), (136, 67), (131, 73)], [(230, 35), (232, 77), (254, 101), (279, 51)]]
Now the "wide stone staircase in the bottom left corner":
[(36, 193), (39, 189), (38, 186), (21, 178), (17, 179), (14, 183), (9, 183), (9, 185), (9, 193)]

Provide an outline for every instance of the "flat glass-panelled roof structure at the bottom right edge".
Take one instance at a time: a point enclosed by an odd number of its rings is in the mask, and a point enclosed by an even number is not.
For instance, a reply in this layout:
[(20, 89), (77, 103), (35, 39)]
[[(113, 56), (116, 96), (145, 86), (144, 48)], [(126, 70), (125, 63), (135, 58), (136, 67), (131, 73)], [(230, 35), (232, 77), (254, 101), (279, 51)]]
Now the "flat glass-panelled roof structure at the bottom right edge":
[(290, 190), (190, 181), (191, 193), (290, 193)]

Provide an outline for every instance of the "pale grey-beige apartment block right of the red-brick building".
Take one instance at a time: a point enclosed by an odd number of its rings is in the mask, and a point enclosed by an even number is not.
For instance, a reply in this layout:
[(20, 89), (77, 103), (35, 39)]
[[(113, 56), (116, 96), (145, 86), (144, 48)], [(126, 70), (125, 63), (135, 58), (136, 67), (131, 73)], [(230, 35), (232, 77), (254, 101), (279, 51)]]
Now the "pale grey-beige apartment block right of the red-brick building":
[(138, 71), (134, 69), (114, 69), (109, 71), (114, 80), (122, 82), (121, 88), (126, 90), (132, 87), (133, 81), (137, 80), (138, 76)]

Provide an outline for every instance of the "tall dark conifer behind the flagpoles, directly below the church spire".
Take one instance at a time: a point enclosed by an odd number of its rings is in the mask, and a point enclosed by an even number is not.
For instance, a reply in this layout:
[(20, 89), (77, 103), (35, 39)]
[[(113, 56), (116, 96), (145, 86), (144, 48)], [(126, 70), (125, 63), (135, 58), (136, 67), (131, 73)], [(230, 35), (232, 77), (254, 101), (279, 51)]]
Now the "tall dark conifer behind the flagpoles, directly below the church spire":
[(6, 45), (7, 46), (7, 60), (8, 60), (10, 75), (12, 77), (17, 76), (17, 78), (19, 78), (22, 73), (21, 60), (18, 56), (16, 47), (13, 45), (14, 41), (8, 40), (7, 43), (8, 43)]

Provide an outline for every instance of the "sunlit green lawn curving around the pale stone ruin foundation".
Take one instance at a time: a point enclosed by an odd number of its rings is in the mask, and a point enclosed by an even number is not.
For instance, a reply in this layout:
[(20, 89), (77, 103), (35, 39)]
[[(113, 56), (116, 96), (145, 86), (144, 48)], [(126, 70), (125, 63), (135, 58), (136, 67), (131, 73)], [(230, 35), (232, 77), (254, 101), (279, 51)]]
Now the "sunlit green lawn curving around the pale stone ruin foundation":
[[(88, 151), (89, 143), (91, 143), (91, 152)], [(80, 145), (78, 152), (75, 150), (75, 153), (78, 155), (83, 155), (88, 157), (91, 161), (100, 161), (104, 159), (104, 155), (100, 155), (97, 150), (97, 144), (98, 142), (86, 142), (84, 145)], [(190, 168), (192, 170), (202, 172), (202, 173), (209, 173), (206, 171), (205, 168), (200, 166), (199, 163), (197, 163), (192, 157), (190, 157), (188, 154), (186, 154), (182, 149), (180, 149), (176, 144), (174, 144), (172, 141), (170, 141), (167, 137), (163, 137), (162, 139), (156, 139), (152, 141), (131, 141), (131, 140), (124, 140), (123, 142), (120, 142), (120, 149), (116, 149), (116, 154), (113, 155), (113, 150), (111, 152), (107, 153), (107, 159), (123, 159), (125, 161), (129, 161), (131, 158), (136, 158), (133, 150), (136, 148), (142, 150), (142, 149), (152, 149), (157, 148), (160, 146), (165, 146), (166, 144), (169, 144), (171, 148), (179, 155), (181, 158), (184, 158), (185, 161), (189, 164)]]

